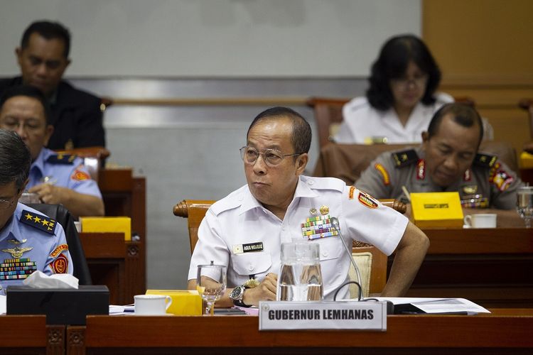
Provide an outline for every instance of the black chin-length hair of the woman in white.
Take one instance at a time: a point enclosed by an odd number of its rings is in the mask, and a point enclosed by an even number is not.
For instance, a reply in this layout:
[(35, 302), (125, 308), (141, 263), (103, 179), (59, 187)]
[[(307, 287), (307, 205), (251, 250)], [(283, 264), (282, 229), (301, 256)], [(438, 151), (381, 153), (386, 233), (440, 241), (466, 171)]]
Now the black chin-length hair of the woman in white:
[(428, 75), (426, 92), (421, 102), (433, 104), (435, 91), (441, 82), (441, 70), (424, 42), (415, 35), (397, 35), (383, 45), (377, 60), (372, 64), (367, 99), (370, 105), (386, 111), (394, 105), (390, 80), (402, 77), (409, 62), (414, 62)]

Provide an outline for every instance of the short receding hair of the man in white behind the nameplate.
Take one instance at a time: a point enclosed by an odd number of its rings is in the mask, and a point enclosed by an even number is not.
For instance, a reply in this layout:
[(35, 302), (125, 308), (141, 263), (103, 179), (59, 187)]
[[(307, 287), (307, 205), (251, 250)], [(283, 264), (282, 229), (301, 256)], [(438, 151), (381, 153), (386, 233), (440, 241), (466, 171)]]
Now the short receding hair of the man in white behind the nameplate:
[(298, 154), (308, 153), (309, 148), (311, 148), (311, 126), (309, 126), (301, 114), (288, 107), (272, 107), (271, 109), (262, 111), (255, 117), (252, 124), (250, 124), (246, 137), (248, 138), (252, 127), (259, 124), (259, 122), (281, 118), (288, 118), (292, 121), (291, 143), (294, 152)]

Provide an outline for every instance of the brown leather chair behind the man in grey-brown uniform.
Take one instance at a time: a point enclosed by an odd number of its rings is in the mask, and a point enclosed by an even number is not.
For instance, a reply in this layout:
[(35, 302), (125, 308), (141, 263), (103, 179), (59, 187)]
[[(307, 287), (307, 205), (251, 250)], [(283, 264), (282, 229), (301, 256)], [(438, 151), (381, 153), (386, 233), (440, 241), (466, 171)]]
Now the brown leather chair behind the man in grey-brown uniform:
[[(315, 165), (313, 176), (331, 177), (344, 180), (352, 185), (361, 173), (386, 151), (397, 151), (404, 148), (416, 147), (418, 144), (337, 144), (330, 143), (321, 148), (321, 153)], [(483, 141), (480, 151), (497, 155), (510, 169), (518, 171), (517, 155), (509, 143)]]

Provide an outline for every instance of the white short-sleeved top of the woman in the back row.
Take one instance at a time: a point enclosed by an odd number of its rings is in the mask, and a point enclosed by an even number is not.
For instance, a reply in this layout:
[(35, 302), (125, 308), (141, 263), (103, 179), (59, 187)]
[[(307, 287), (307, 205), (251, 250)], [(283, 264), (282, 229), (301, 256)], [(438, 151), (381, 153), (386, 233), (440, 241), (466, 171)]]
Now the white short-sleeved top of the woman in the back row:
[[(335, 135), (336, 143), (411, 143), (421, 142), (431, 117), (443, 104), (453, 102), (453, 97), (439, 93), (434, 104), (416, 104), (407, 124), (399, 121), (393, 108), (379, 111), (366, 97), (356, 97), (343, 107), (343, 123)], [(386, 140), (385, 140), (386, 138)]]

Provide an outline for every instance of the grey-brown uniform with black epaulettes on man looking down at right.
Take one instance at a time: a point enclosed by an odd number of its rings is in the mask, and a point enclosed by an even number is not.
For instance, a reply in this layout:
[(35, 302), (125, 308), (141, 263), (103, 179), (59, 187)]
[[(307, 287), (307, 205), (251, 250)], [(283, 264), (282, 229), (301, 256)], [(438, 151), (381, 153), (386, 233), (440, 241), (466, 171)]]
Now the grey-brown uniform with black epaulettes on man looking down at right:
[(377, 198), (407, 202), (402, 186), (409, 192), (458, 191), (463, 207), (513, 209), (517, 187), (522, 181), (495, 155), (478, 153), (463, 178), (443, 189), (426, 173), (421, 148), (380, 154), (361, 174), (355, 186)]

